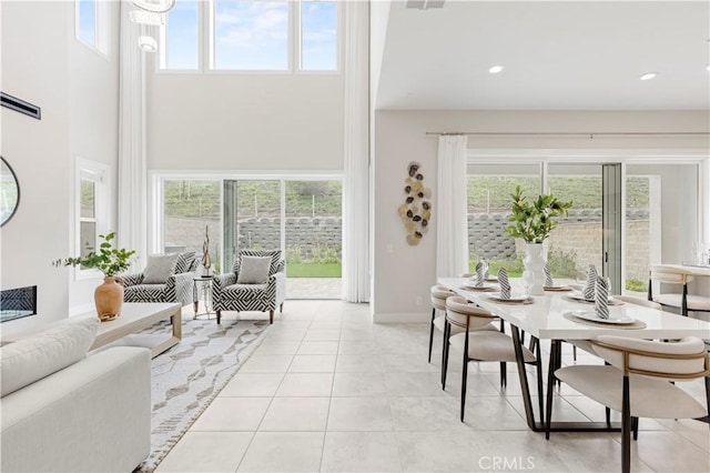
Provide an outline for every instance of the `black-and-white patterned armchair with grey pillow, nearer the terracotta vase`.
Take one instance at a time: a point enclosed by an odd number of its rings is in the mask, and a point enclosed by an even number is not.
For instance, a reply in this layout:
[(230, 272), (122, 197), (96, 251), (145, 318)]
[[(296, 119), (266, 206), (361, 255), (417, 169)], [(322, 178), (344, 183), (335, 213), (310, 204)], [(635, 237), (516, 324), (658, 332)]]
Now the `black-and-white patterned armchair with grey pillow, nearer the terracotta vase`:
[(152, 255), (142, 273), (123, 275), (125, 302), (179, 302), (194, 303), (194, 278), (197, 259), (194, 251), (176, 255)]

